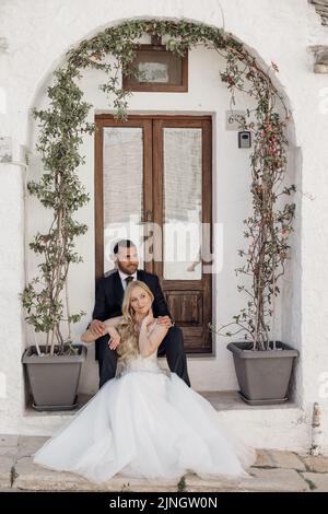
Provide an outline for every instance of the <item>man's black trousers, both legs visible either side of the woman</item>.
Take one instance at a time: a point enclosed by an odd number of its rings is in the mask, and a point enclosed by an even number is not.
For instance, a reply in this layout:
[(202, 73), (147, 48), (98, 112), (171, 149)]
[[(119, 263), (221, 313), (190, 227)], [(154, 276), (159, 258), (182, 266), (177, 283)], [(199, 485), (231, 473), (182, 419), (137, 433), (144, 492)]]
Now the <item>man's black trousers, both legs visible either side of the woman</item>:
[[(169, 370), (190, 386), (187, 359), (184, 349), (184, 336), (180, 328), (169, 328), (160, 344), (157, 354), (166, 355)], [(102, 387), (107, 381), (114, 378), (117, 364), (117, 353), (108, 348), (107, 337), (97, 341), (97, 360), (99, 364), (99, 387)]]

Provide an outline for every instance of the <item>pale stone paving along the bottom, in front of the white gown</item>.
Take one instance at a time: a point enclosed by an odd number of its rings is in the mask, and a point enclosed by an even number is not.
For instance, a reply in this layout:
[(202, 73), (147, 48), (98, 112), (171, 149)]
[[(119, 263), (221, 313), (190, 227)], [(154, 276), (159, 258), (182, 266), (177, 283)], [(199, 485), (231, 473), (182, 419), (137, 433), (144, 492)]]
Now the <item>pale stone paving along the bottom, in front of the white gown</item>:
[[(47, 437), (9, 435), (0, 437), (0, 489), (13, 491), (311, 491), (328, 490), (327, 457), (298, 456), (293, 452), (258, 449), (249, 477), (213, 480), (188, 474), (180, 481), (140, 480), (116, 476), (103, 484), (70, 472), (45, 469), (33, 463), (33, 454)], [(320, 471), (319, 474), (316, 471)]]

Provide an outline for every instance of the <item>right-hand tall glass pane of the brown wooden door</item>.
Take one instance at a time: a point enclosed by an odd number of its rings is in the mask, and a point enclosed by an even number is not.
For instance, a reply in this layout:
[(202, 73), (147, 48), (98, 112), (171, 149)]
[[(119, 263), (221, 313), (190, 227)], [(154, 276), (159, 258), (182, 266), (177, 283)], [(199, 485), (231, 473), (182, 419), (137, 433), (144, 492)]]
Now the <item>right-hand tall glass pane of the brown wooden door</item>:
[(201, 280), (200, 128), (164, 128), (164, 279)]

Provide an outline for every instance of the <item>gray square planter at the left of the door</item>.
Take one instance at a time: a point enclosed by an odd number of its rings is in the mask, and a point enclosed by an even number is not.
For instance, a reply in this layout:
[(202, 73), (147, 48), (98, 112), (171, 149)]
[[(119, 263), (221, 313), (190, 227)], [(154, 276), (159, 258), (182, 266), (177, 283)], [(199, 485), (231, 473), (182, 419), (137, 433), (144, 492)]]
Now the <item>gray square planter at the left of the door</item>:
[[(86, 348), (77, 344), (77, 355), (37, 355), (36, 348), (25, 350), (25, 365), (36, 410), (70, 410), (77, 404), (77, 392)], [(45, 347), (40, 347), (44, 351)]]

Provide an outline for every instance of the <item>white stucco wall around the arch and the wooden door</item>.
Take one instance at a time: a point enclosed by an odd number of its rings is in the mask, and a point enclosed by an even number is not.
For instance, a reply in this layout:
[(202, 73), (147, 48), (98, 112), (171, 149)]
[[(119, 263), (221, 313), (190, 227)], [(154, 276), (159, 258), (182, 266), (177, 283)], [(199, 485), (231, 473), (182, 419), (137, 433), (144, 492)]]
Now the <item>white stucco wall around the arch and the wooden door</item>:
[[(302, 350), (295, 390), (298, 408), (303, 410), (295, 409), (292, 416), (294, 421), (286, 422), (286, 411), (278, 409), (276, 422), (277, 427), (281, 427), (282, 433), (277, 429), (276, 439), (272, 435), (271, 442), (268, 433), (262, 439), (267, 445), (276, 445), (276, 441), (281, 441), (281, 447), (291, 447), (293, 437), (289, 423), (295, 427), (297, 424), (298, 439), (295, 445), (305, 447), (308, 443), (308, 427), (304, 420), (311, 419), (313, 402), (318, 401), (323, 407), (326, 402), (326, 409), (328, 408), (327, 400), (323, 397), (325, 390), (323, 387), (320, 390), (320, 384), (325, 379), (323, 373), (328, 372), (328, 230), (325, 205), (325, 172), (328, 162), (328, 148), (325, 143), (328, 128), (328, 102), (325, 95), (328, 96), (328, 90), (325, 89), (328, 87), (328, 79), (327, 75), (313, 73), (313, 56), (307, 51), (309, 45), (327, 43), (328, 31), (320, 26), (319, 19), (307, 0), (248, 0), (247, 3), (242, 0), (208, 0), (201, 3), (190, 0), (2, 0), (0, 36), (7, 37), (8, 50), (0, 54), (0, 91), (1, 97), (7, 98), (0, 105), (0, 137), (10, 136), (19, 144), (26, 144), (32, 150), (35, 127), (28, 116), (30, 109), (33, 105), (42, 104), (51, 72), (62, 62), (65, 52), (82, 38), (92, 36), (110, 24), (136, 16), (186, 17), (215, 26), (222, 26), (224, 19), (225, 30), (259, 55), (265, 66), (269, 67), (273, 60), (280, 68), (278, 78), (292, 108), (295, 125), (294, 133), (291, 127), (290, 177), (297, 185), (298, 192), (296, 232), (293, 236), (292, 260), (284, 279), (281, 331), (279, 322), (278, 336)], [(234, 268), (238, 264), (236, 249), (243, 245), (242, 221), (249, 201), (248, 152), (237, 149), (235, 132), (225, 131), (224, 112), (229, 106), (229, 95), (220, 82), (218, 61), (218, 57), (211, 51), (194, 50), (190, 55), (188, 94), (136, 93), (129, 105), (131, 112), (180, 110), (213, 115), (214, 220), (224, 223), (224, 267), (215, 279), (214, 315), (218, 323), (224, 323), (230, 319), (231, 314), (236, 313), (241, 301), (235, 292)], [(105, 97), (97, 91), (99, 81), (94, 79), (93, 72), (86, 72), (83, 78), (86, 96), (96, 109), (106, 109)], [(81, 178), (93, 196), (91, 138), (85, 141), (84, 151), (86, 163), (81, 170)], [(32, 162), (30, 177), (37, 176), (37, 159), (33, 156)], [(0, 373), (4, 374), (3, 382), (7, 385), (2, 397), (0, 395), (0, 431), (27, 430), (26, 427), (33, 427), (31, 430), (37, 433), (37, 423), (31, 419), (27, 422), (23, 416), (23, 383), (19, 362), (28, 331), (21, 323), (17, 294), (25, 277), (31, 278), (33, 273), (33, 260), (30, 256), (26, 276), (24, 273), (24, 167), (0, 165), (0, 190), (5, 199), (5, 208), (1, 202), (0, 328), (2, 334), (8, 334), (5, 343), (0, 348)], [(38, 211), (31, 200), (25, 207), (28, 222), (26, 226), (34, 233), (36, 226), (39, 227)], [(79, 269), (72, 270), (70, 277), (72, 308), (84, 308), (90, 313), (93, 306), (93, 201), (80, 215), (87, 220), (90, 231), (78, 245), (85, 261)], [(83, 324), (75, 327), (77, 336)], [(196, 389), (236, 387), (232, 360), (225, 351), (225, 340), (218, 340), (214, 359), (189, 360)], [(82, 389), (92, 390), (96, 387), (96, 372), (91, 354), (83, 371)], [(246, 417), (249, 417), (251, 425), (251, 419), (256, 417), (249, 414), (250, 411)], [(254, 443), (260, 444), (261, 416), (254, 422), (257, 427), (253, 432)], [(262, 423), (265, 427), (265, 421)], [(288, 431), (285, 434), (284, 429)], [(328, 436), (325, 444), (328, 447)]]

